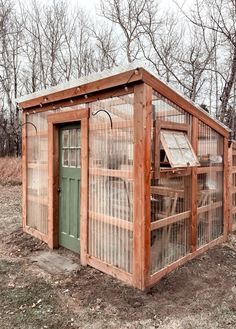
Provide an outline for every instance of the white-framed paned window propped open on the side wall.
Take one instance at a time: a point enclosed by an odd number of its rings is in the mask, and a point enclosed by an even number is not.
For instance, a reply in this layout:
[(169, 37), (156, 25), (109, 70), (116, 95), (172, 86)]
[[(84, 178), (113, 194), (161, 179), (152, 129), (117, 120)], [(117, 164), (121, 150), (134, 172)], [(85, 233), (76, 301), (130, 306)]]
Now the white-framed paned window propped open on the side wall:
[(161, 143), (172, 168), (200, 166), (185, 132), (161, 130)]

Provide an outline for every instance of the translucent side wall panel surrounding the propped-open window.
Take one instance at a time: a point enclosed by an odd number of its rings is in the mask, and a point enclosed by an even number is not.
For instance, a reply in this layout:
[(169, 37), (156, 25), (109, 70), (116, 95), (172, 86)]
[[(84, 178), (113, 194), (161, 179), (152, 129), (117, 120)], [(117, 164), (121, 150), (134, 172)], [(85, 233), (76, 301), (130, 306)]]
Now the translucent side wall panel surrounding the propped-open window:
[[(191, 140), (192, 117), (158, 93), (153, 95), (152, 179), (151, 179), (151, 274), (190, 252), (190, 171), (172, 172), (156, 165), (155, 129), (163, 124), (186, 124)], [(161, 158), (161, 154), (160, 154)], [(157, 172), (159, 171), (158, 175)], [(154, 177), (159, 177), (155, 179)], [(171, 223), (171, 224), (170, 224)]]

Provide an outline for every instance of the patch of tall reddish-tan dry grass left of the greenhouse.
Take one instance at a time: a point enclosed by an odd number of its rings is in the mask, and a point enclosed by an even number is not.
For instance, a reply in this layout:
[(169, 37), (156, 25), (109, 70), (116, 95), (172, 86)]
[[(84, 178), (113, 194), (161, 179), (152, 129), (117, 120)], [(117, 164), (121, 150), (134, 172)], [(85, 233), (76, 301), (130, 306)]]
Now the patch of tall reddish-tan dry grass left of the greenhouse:
[(21, 158), (0, 158), (0, 185), (21, 184)]

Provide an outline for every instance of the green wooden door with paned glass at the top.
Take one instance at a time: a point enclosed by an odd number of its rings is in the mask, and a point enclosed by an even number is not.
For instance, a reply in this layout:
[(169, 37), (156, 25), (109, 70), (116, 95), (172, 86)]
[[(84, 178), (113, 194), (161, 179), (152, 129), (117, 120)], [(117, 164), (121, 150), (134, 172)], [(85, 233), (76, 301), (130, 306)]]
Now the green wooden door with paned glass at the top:
[(59, 244), (80, 251), (80, 124), (60, 128)]

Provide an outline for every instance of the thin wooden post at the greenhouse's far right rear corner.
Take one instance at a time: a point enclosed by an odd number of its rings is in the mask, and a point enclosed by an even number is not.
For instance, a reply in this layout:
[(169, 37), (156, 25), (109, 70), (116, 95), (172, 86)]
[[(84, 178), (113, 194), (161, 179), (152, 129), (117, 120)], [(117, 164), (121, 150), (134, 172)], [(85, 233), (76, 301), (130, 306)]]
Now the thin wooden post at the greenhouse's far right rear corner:
[(224, 137), (224, 192), (223, 192), (223, 219), (224, 240), (227, 240), (229, 232), (229, 165), (228, 165), (228, 138)]

